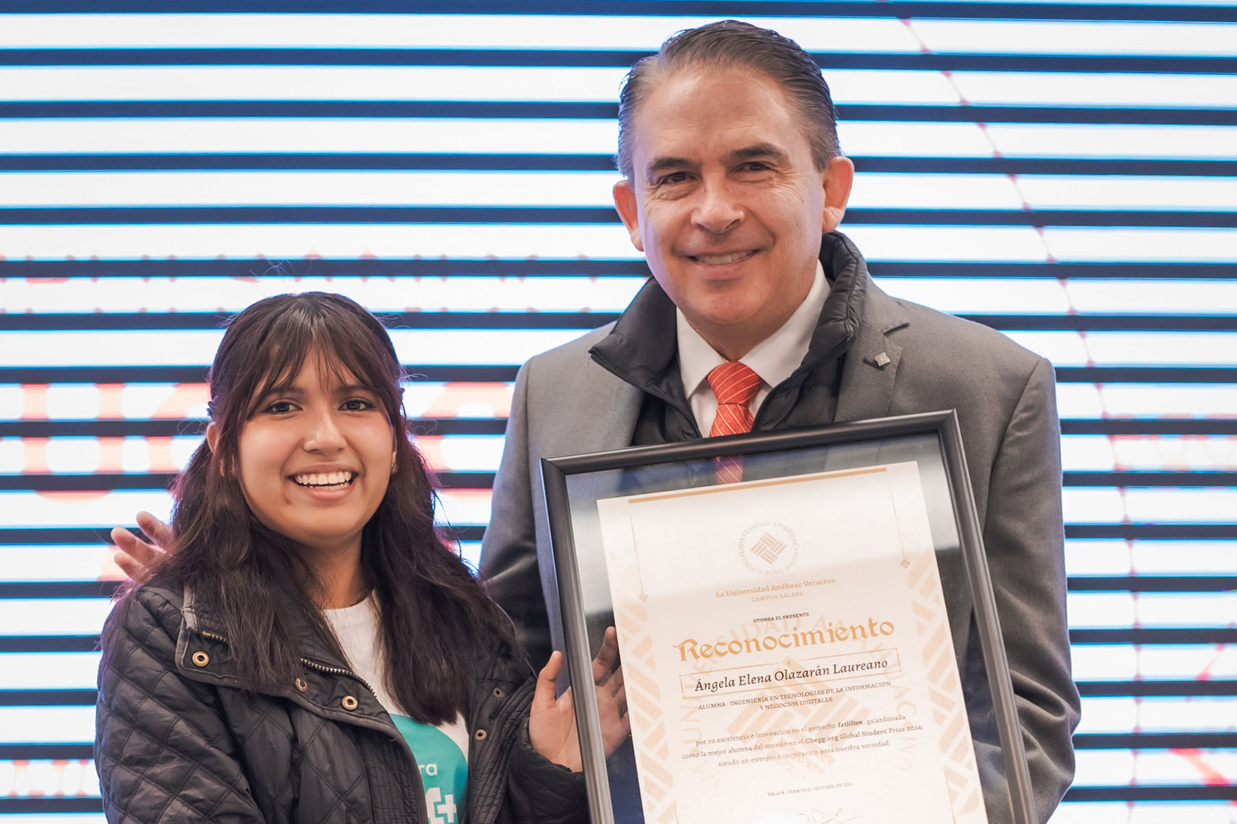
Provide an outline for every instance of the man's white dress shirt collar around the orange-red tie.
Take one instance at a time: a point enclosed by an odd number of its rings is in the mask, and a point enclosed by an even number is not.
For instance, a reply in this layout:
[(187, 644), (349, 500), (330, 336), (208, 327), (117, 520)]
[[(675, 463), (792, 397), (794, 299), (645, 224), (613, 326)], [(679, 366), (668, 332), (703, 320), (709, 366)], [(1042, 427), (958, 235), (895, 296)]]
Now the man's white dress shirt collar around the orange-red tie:
[[(820, 320), (820, 310), (829, 296), (829, 282), (825, 280), (825, 271), (816, 261), (816, 278), (811, 282), (808, 296), (803, 299), (799, 308), (794, 310), (776, 332), (752, 347), (752, 351), (738, 358), (752, 372), (761, 376), (761, 388), (752, 398), (752, 415), (760, 410), (764, 398), (777, 384), (790, 377), (790, 373), (799, 368), (804, 356), (808, 355), (808, 346), (811, 343), (811, 334), (816, 330)], [(717, 398), (709, 387), (709, 373), (715, 367), (726, 362), (708, 341), (700, 337), (700, 332), (691, 327), (688, 319), (683, 316), (682, 309), (674, 310), (678, 338), (679, 338), (679, 377), (683, 378), (683, 392), (691, 404), (691, 414), (696, 419), (696, 426), (701, 435), (708, 435), (713, 429), (713, 419), (717, 415)]]

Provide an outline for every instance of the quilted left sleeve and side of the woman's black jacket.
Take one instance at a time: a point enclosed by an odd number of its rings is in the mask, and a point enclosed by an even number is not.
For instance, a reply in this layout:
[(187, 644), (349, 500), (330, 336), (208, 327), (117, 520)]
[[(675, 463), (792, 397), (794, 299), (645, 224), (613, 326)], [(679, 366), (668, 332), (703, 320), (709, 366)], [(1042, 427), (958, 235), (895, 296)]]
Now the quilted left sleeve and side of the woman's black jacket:
[(359, 750), (380, 734), (184, 677), (179, 626), (179, 605), (142, 588), (104, 628), (95, 762), (108, 820), (374, 820)]

